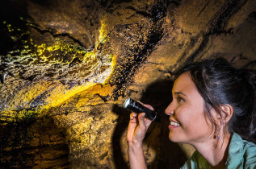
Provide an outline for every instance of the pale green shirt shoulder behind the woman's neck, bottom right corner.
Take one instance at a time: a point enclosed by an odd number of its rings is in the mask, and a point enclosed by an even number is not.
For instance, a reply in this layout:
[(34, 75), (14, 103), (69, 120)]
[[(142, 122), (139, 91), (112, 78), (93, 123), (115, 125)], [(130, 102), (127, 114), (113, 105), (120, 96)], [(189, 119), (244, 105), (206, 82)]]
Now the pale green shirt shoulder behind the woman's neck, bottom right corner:
[(229, 168), (256, 167), (256, 145), (243, 140), (238, 134), (233, 134), (226, 165)]

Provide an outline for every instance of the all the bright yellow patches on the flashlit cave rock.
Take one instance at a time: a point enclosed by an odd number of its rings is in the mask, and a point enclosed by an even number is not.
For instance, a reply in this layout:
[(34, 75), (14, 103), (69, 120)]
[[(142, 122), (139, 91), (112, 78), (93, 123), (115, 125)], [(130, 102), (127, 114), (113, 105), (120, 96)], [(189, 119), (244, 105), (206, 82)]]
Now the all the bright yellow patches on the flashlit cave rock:
[[(22, 18), (21, 18), (22, 19)], [(23, 19), (22, 19), (23, 20)], [(8, 28), (9, 31), (15, 31), (19, 30), (19, 28), (12, 27), (10, 24), (6, 23), (5, 21), (3, 22), (6, 24), (6, 27)], [(20, 30), (19, 30), (20, 31)], [(103, 96), (107, 96), (107, 93), (101, 92), (102, 90), (102, 85), (107, 84), (107, 80), (111, 76), (111, 73), (114, 71), (115, 68), (115, 63), (116, 63), (116, 56), (112, 56), (110, 54), (103, 54), (101, 51), (97, 50), (97, 47), (99, 46), (99, 43), (106, 43), (107, 42), (107, 33), (108, 33), (108, 26), (107, 26), (107, 16), (104, 15), (103, 19), (101, 20), (101, 28), (99, 30), (99, 38), (95, 42), (95, 49), (94, 51), (87, 52), (83, 51), (79, 47), (75, 47), (72, 44), (66, 44), (60, 41), (56, 41), (52, 45), (47, 45), (45, 43), (42, 44), (33, 44), (33, 39), (28, 39), (23, 40), (23, 49), (21, 50), (21, 56), (17, 56), (19, 60), (24, 60), (27, 58), (31, 58), (32, 60), (40, 60), (48, 65), (51, 64), (63, 64), (67, 65), (70, 64), (74, 58), (79, 57), (80, 60), (82, 60), (83, 64), (91, 66), (91, 68), (97, 68), (95, 65), (98, 64), (101, 60), (99, 60), (99, 57), (103, 57), (102, 55), (105, 55), (104, 57), (108, 58), (107, 60), (110, 60), (109, 64), (106, 64), (108, 66), (107, 69), (103, 68), (95, 70), (96, 73), (99, 73), (99, 78), (97, 79), (97, 76), (92, 78), (91, 80), (87, 81), (83, 85), (75, 86), (72, 89), (66, 89), (65, 85), (62, 85), (58, 81), (43, 81), (40, 83), (37, 83), (35, 85), (31, 85), (31, 87), (28, 87), (27, 89), (23, 89), (19, 93), (15, 95), (15, 98), (12, 99), (12, 103), (10, 104), (9, 108), (7, 109), (6, 112), (2, 111), (1, 114), (1, 120), (2, 121), (16, 121), (16, 120), (21, 120), (26, 117), (31, 117), (34, 116), (35, 113), (41, 113), (43, 112), (44, 109), (50, 109), (52, 107), (57, 107), (61, 105), (63, 102), (67, 101), (69, 98), (75, 96), (78, 93), (81, 93), (83, 91), (88, 90), (88, 93), (90, 93), (90, 97), (93, 96), (95, 93), (103, 93)], [(21, 36), (23, 35), (28, 35), (29, 32), (21, 32)], [(30, 47), (34, 47), (33, 52), (31, 52)], [(36, 50), (35, 50), (36, 49)], [(55, 53), (55, 55), (58, 55), (59, 52), (63, 55), (69, 55), (72, 56), (71, 59), (68, 61), (65, 61), (63, 63), (63, 59), (52, 57), (52, 54)], [(37, 58), (37, 59), (36, 59)], [(29, 63), (33, 64), (33, 63)], [(100, 65), (100, 63), (99, 63)], [(90, 70), (93, 71), (93, 70)], [(79, 73), (79, 72), (77, 72)], [(100, 74), (101, 73), (101, 74)], [(99, 82), (94, 82), (94, 81), (101, 81)], [(95, 86), (100, 86), (100, 89)], [(43, 105), (40, 105), (40, 107), (37, 107), (37, 110), (31, 111), (31, 110), (26, 110), (30, 109), (30, 104), (32, 101), (35, 101), (36, 97), (40, 96), (42, 93), (45, 91), (50, 92), (45, 95), (44, 103)], [(111, 89), (108, 88), (107, 89)], [(93, 92), (92, 92), (93, 91)], [(109, 91), (107, 91), (109, 93)], [(88, 96), (89, 97), (89, 96)], [(17, 106), (23, 107), (23, 111), (18, 112), (16, 109)], [(37, 105), (38, 106), (38, 105)], [(38, 109), (40, 108), (40, 109)]]

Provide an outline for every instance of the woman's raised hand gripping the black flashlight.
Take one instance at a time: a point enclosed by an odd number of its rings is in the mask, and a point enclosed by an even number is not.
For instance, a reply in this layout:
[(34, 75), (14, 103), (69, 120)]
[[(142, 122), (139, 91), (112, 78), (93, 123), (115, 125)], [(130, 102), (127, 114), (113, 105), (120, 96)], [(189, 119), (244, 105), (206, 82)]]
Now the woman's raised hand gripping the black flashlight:
[[(142, 104), (144, 105), (144, 104)], [(151, 105), (144, 105), (145, 107), (152, 109)], [(131, 113), (130, 122), (128, 126), (127, 141), (130, 146), (141, 146), (142, 141), (145, 138), (145, 134), (149, 129), (151, 120), (145, 117), (145, 113)]]

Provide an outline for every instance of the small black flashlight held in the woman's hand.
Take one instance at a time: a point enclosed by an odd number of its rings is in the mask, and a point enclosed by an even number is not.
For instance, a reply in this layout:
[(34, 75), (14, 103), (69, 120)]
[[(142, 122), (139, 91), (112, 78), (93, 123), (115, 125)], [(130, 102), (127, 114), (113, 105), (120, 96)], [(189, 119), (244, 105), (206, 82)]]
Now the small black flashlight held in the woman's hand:
[(159, 115), (157, 115), (157, 112), (146, 108), (144, 105), (141, 105), (138, 101), (132, 100), (130, 97), (128, 97), (124, 101), (124, 108), (132, 110), (134, 113), (145, 113), (145, 117), (149, 118), (149, 120), (156, 120), (159, 118)]

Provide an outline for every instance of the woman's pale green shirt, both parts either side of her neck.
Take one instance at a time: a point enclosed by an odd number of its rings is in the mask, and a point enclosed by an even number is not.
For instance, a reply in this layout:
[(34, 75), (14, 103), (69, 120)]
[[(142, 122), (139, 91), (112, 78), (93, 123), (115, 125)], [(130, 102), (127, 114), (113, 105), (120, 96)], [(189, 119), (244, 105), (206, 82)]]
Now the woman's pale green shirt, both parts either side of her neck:
[[(196, 150), (181, 167), (182, 169), (211, 168), (210, 164)], [(256, 168), (256, 145), (253, 142), (243, 140), (238, 134), (233, 134), (229, 145), (229, 156), (225, 163), (225, 168)]]

